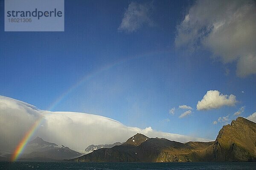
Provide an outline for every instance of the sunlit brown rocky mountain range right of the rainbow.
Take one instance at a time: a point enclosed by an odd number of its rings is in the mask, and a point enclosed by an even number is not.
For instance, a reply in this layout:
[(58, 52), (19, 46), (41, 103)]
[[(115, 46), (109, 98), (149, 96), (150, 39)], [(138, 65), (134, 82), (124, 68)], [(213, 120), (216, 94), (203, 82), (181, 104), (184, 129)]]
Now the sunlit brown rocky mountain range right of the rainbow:
[(86, 162), (256, 161), (256, 123), (238, 117), (215, 141), (180, 143), (137, 133), (124, 144), (70, 159)]

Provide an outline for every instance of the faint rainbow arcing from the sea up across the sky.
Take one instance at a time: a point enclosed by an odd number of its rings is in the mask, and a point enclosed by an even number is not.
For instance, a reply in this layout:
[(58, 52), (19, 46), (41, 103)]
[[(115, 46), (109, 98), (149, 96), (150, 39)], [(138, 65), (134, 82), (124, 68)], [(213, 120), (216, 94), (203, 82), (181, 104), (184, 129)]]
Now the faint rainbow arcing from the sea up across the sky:
[[(108, 64), (106, 66), (103, 66), (102, 68), (96, 70), (95, 72), (92, 72), (88, 75), (85, 75), (84, 77), (82, 77), (78, 82), (76, 82), (76, 84), (74, 84), (73, 86), (70, 86), (70, 88), (68, 88), (64, 93), (62, 93), (49, 107), (47, 110), (52, 110), (56, 105), (58, 105), (61, 101), (64, 100), (65, 97), (67, 97), (71, 92), (73, 92), (73, 90), (75, 90), (76, 88), (78, 88), (81, 84), (83, 84), (86, 81), (89, 81), (91, 78), (95, 77), (96, 75), (99, 75), (100, 73), (107, 71), (108, 69), (111, 69), (112, 67), (121, 64), (121, 63), (125, 63), (127, 61), (130, 61), (132, 59), (138, 59), (138, 58), (143, 58), (147, 55), (152, 55), (152, 54), (158, 54), (159, 52), (163, 52), (162, 50), (160, 51), (155, 51), (155, 52), (148, 52), (145, 53), (143, 55), (137, 55), (137, 56), (132, 56), (129, 58), (125, 58), (119, 61), (116, 61), (114, 63)], [(41, 116), (37, 121), (35, 121), (35, 123), (32, 125), (32, 127), (30, 127), (30, 129), (26, 132), (26, 134), (23, 136), (22, 140), (20, 141), (20, 143), (17, 145), (17, 147), (15, 148), (14, 153), (12, 154), (12, 158), (11, 161), (16, 161), (17, 158), (20, 156), (20, 154), (23, 152), (23, 150), (25, 149), (28, 141), (30, 141), (30, 138), (33, 136), (33, 134), (35, 133), (35, 131), (38, 129), (39, 125), (41, 124), (41, 121), (44, 119), (43, 116)]]

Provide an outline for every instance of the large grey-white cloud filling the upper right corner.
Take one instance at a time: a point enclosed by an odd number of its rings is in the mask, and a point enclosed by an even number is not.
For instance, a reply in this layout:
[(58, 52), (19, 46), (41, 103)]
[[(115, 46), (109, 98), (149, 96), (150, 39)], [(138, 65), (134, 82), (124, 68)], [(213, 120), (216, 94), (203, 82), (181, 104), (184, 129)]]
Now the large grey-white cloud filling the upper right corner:
[(176, 47), (203, 47), (222, 63), (237, 62), (236, 74), (256, 73), (253, 0), (197, 0), (177, 26)]

